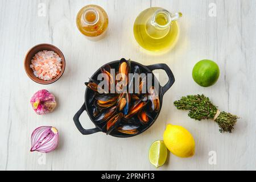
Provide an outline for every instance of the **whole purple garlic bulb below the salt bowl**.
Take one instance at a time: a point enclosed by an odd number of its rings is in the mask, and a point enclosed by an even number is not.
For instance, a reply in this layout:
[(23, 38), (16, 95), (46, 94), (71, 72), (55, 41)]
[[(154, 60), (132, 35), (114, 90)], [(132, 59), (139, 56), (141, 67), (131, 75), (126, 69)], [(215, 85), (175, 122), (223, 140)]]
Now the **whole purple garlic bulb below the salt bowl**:
[(52, 112), (56, 107), (55, 97), (48, 90), (39, 90), (32, 96), (30, 103), (36, 114), (42, 115)]

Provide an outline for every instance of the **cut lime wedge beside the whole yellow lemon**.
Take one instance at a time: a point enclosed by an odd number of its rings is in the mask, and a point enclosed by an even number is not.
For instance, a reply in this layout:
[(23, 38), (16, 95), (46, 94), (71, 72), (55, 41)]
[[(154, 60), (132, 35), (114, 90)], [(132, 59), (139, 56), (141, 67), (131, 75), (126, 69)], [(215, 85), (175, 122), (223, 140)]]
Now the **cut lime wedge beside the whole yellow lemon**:
[(156, 168), (163, 166), (167, 159), (167, 148), (163, 141), (158, 140), (151, 144), (148, 158)]

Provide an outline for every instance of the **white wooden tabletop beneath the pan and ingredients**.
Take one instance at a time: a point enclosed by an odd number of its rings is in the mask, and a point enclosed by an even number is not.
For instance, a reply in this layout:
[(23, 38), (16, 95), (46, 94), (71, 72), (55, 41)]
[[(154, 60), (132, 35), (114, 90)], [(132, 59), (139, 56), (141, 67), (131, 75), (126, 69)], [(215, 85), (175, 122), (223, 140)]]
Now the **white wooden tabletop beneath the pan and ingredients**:
[[(108, 35), (100, 42), (90, 42), (76, 28), (77, 12), (91, 3), (109, 15)], [(214, 5), (217, 15), (209, 16)], [(145, 53), (133, 36), (135, 18), (151, 6), (184, 14), (179, 21), (179, 42), (165, 55)], [(1, 0), (0, 169), (154, 170), (148, 148), (162, 139), (167, 123), (191, 131), (196, 154), (189, 159), (170, 155), (159, 170), (256, 169), (255, 17), (254, 0)], [(23, 68), (26, 52), (39, 43), (54, 44), (66, 58), (64, 75), (51, 85), (31, 81)], [(84, 82), (101, 65), (121, 57), (146, 65), (166, 63), (174, 72), (176, 82), (164, 96), (158, 120), (145, 133), (128, 139), (103, 133), (81, 135), (72, 118), (84, 102)], [(217, 84), (210, 88), (201, 88), (192, 80), (193, 65), (201, 59), (216, 61), (221, 70)], [(164, 84), (167, 76), (158, 73)], [(31, 109), (30, 98), (39, 89), (55, 94), (58, 106), (53, 113), (39, 116)], [(240, 115), (233, 134), (220, 134), (213, 121), (193, 121), (172, 104), (180, 96), (197, 93), (210, 97), (221, 110)], [(85, 113), (81, 121), (85, 128), (93, 127)], [(46, 156), (30, 152), (32, 131), (47, 125), (59, 129), (59, 147)], [(208, 161), (210, 151), (216, 152), (216, 165)]]

